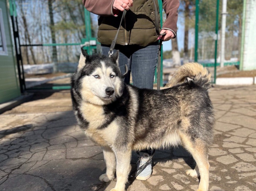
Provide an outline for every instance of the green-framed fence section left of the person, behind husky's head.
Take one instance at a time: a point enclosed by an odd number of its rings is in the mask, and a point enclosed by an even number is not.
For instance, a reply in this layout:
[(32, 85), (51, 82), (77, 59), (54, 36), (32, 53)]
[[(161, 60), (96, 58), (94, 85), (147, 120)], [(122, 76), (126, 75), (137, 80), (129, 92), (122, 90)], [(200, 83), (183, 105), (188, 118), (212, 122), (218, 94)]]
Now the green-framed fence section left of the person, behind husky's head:
[(22, 90), (70, 88), (80, 47), (90, 54), (100, 50), (93, 15), (77, 0), (9, 0), (9, 5)]

